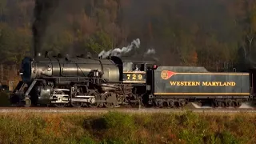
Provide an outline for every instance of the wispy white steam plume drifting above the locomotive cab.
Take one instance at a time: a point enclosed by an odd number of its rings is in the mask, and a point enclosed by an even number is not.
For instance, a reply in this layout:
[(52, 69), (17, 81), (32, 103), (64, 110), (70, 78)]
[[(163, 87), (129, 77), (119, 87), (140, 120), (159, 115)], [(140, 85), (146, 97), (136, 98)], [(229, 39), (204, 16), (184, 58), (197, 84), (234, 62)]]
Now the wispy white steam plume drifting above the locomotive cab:
[(133, 50), (134, 48), (139, 48), (139, 46), (141, 45), (141, 42), (139, 40), (139, 38), (135, 39), (133, 42), (131, 42), (131, 44), (129, 46), (126, 47), (122, 47), (122, 49), (120, 48), (115, 48), (114, 50), (109, 50), (109, 51), (105, 51), (102, 50), (102, 52), (100, 52), (98, 54), (98, 57), (102, 57), (102, 58), (106, 58), (108, 57), (110, 54), (111, 56), (118, 56), (121, 57), (122, 54), (127, 54), (129, 53), (131, 50)]

